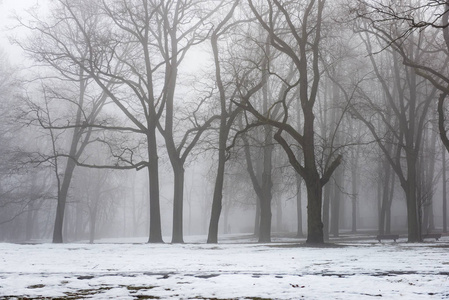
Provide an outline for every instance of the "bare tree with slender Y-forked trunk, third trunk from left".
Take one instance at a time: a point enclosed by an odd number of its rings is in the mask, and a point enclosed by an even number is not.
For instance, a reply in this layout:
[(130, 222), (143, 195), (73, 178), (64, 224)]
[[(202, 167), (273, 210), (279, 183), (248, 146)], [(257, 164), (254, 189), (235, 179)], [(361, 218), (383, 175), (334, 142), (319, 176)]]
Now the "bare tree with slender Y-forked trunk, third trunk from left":
[[(175, 124), (175, 98), (178, 81), (178, 68), (192, 46), (202, 43), (209, 36), (211, 24), (209, 19), (221, 8), (222, 2), (214, 4), (213, 9), (207, 10), (210, 4), (204, 0), (196, 1), (166, 1), (155, 7), (154, 19), (158, 30), (151, 30), (151, 36), (157, 41), (158, 51), (164, 59), (164, 86), (161, 102), (165, 105), (164, 126), (158, 125), (165, 139), (168, 156), (174, 174), (173, 199), (173, 236), (172, 243), (183, 243), (183, 202), (184, 202), (184, 165), (200, 136), (216, 117), (211, 116), (205, 121), (199, 118), (198, 112), (206, 100), (207, 95), (198, 101), (190, 114), (189, 123)], [(179, 112), (179, 110), (178, 110)], [(188, 125), (187, 125), (188, 124)], [(187, 125), (187, 130), (179, 138), (179, 133)], [(190, 126), (190, 128), (189, 128)], [(176, 132), (175, 132), (176, 131)], [(177, 141), (179, 139), (179, 141)]]

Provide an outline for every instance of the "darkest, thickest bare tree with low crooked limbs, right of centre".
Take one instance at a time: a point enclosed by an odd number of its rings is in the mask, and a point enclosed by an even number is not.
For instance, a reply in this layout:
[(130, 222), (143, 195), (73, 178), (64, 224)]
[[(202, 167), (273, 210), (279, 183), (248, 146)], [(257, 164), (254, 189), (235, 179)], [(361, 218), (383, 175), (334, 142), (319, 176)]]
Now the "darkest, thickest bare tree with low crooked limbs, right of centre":
[[(269, 1), (264, 6), (256, 6), (253, 1), (249, 1), (249, 5), (257, 21), (267, 32), (270, 45), (288, 58), (289, 63), (294, 66), (297, 76), (289, 81), (279, 71), (275, 73), (274, 69), (269, 70), (270, 73), (274, 73), (276, 77), (283, 80), (286, 86), (282, 97), (276, 99), (275, 102), (276, 105), (283, 108), (282, 121), (271, 119), (269, 113), (265, 115), (260, 113), (249, 101), (244, 103), (244, 108), (256, 116), (260, 122), (277, 128), (274, 139), (285, 150), (290, 164), (304, 179), (307, 188), (307, 243), (323, 243), (322, 188), (341, 161), (341, 156), (331, 153), (322, 166), (320, 174), (320, 167), (317, 165), (317, 149), (315, 148), (314, 106), (321, 77), (320, 42), (325, 1), (305, 1), (301, 3), (302, 9), (296, 6), (298, 3), (280, 3), (277, 0)], [(260, 7), (263, 7), (263, 10)], [(295, 14), (292, 13), (293, 11)], [(297, 15), (297, 12), (300, 12), (300, 16)], [(287, 96), (297, 86), (299, 87), (297, 101), (301, 103), (304, 124), (302, 132), (288, 123)], [(283, 137), (283, 134), (287, 134), (297, 143), (302, 157), (295, 154), (294, 148)]]

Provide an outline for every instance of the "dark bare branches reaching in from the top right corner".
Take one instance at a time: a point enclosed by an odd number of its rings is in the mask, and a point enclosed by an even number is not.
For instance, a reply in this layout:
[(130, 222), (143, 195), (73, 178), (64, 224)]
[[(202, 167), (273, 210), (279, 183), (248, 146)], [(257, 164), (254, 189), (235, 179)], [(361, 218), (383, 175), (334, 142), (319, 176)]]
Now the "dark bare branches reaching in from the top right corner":
[[(449, 3), (442, 0), (357, 1), (350, 11), (358, 19), (369, 22), (373, 32), (383, 40), (383, 46), (393, 48), (402, 58), (403, 64), (413, 68), (417, 75), (426, 78), (441, 91), (438, 99), (439, 132), (449, 151), (444, 114), (444, 102), (449, 93)], [(390, 26), (393, 23), (397, 25)], [(415, 56), (404, 48), (404, 42), (413, 37), (415, 32), (429, 37), (425, 45), (427, 55)]]

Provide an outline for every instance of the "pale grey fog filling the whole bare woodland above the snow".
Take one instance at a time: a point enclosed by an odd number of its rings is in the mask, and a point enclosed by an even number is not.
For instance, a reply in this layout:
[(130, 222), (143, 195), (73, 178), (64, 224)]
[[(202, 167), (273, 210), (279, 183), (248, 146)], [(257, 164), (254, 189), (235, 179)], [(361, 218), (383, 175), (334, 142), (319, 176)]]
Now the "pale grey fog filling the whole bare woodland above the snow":
[(0, 2), (0, 241), (446, 233), (447, 11), (315, 2)]

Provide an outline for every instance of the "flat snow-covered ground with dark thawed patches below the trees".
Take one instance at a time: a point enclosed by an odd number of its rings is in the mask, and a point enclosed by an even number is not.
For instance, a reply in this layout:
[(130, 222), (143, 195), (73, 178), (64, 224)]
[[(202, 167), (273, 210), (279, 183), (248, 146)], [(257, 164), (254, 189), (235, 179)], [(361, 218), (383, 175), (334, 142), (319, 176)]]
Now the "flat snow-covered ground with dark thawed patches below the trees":
[(449, 299), (449, 237), (326, 248), (0, 243), (0, 299), (14, 298)]

